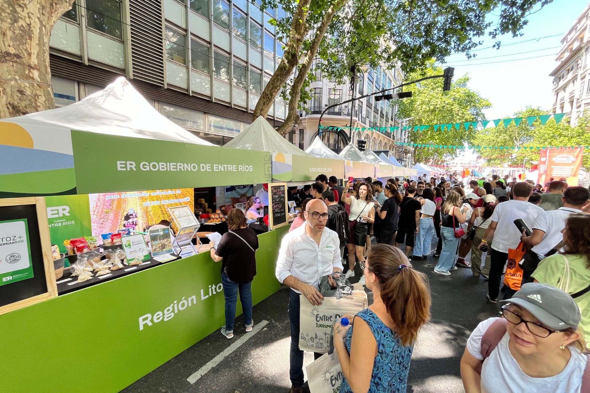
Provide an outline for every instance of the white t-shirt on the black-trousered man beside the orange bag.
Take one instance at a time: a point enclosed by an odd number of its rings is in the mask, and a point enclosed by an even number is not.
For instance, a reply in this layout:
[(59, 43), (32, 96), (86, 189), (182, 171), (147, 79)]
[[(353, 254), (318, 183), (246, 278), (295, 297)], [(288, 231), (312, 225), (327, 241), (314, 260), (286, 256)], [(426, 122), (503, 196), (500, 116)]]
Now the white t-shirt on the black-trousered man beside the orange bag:
[(531, 227), (537, 216), (544, 210), (535, 204), (522, 200), (508, 200), (496, 205), (491, 220), (498, 223), (491, 248), (507, 253), (508, 249), (514, 249), (520, 242), (519, 232), (514, 220), (523, 219)]

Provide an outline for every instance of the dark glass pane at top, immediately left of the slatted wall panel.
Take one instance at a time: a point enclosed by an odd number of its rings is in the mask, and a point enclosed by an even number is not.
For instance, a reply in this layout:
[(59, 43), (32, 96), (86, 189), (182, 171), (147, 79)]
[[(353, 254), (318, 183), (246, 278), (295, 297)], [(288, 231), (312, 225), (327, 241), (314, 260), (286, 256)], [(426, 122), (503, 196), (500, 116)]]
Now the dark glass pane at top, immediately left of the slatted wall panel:
[(121, 3), (117, 0), (86, 0), (87, 26), (123, 39)]

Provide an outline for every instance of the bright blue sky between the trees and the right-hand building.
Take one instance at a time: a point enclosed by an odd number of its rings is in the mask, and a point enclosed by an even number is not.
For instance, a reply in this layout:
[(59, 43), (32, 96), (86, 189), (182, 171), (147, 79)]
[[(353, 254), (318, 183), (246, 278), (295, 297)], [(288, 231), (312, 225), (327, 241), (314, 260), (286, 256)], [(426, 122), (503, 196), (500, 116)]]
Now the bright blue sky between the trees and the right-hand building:
[[(466, 61), (464, 54), (447, 58), (447, 65), (455, 68), (455, 78), (468, 73), (471, 77), (469, 87), (490, 100), (492, 107), (486, 110), (488, 120), (510, 117), (514, 111), (522, 110), (527, 105), (550, 110), (553, 105), (553, 78), (549, 77), (549, 73), (556, 67), (555, 55), (559, 51), (563, 34), (569, 31), (588, 1), (554, 0), (529, 16), (529, 24), (522, 30), (522, 37), (501, 37), (500, 49), (477, 50), (473, 52), (477, 57), (469, 61)], [(490, 18), (495, 19), (494, 16)], [(552, 35), (555, 37), (547, 37)], [(528, 41), (530, 39), (533, 41)], [(486, 37), (480, 48), (493, 44)], [(522, 58), (530, 59), (499, 62)], [(490, 62), (497, 63), (483, 64)]]

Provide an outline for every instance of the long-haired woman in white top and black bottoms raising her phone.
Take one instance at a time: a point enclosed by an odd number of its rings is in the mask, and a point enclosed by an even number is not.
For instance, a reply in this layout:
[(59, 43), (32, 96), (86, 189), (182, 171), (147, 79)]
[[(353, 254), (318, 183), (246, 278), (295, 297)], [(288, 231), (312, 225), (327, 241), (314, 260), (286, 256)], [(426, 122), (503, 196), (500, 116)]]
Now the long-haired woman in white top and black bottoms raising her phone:
[[(350, 181), (346, 183), (342, 196), (346, 195), (346, 191), (350, 189), (352, 183)], [(369, 232), (369, 224), (375, 222), (375, 202), (373, 202), (373, 194), (371, 186), (367, 183), (360, 183), (358, 190), (358, 197), (347, 196), (342, 201), (350, 205), (350, 214), (348, 219), (355, 221), (356, 224), (353, 228), (354, 236), (348, 241), (346, 246), (348, 247), (348, 272), (346, 272), (346, 278), (350, 278), (355, 275), (355, 256), (359, 259), (359, 262), (365, 262), (363, 257), (363, 250), (365, 249), (366, 239)]]

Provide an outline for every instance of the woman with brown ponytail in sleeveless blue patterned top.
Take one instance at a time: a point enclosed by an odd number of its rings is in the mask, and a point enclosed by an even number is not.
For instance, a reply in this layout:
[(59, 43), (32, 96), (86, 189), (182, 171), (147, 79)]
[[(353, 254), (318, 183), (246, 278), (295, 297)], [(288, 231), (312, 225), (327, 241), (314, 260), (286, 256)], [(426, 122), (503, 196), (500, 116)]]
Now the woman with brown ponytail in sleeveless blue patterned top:
[(406, 391), (414, 342), (430, 319), (428, 279), (407, 263), (401, 250), (385, 244), (373, 246), (360, 262), (374, 300), (348, 316), (348, 326), (334, 324), (343, 374), (340, 393)]

